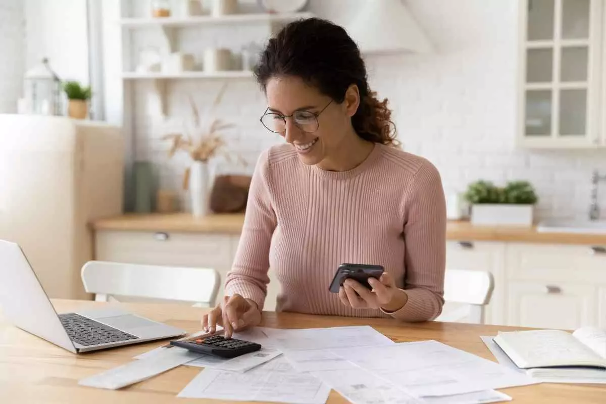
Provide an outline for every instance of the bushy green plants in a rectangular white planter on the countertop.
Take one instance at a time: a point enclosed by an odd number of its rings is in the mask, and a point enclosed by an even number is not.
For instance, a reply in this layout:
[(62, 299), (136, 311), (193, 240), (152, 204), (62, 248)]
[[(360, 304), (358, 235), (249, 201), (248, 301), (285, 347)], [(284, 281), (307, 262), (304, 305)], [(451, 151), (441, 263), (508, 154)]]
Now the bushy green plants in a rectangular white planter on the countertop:
[(534, 188), (525, 180), (510, 181), (502, 188), (478, 180), (468, 186), (465, 199), (471, 205), (474, 225), (531, 226), (538, 201)]

